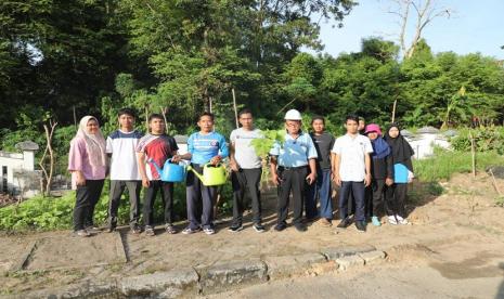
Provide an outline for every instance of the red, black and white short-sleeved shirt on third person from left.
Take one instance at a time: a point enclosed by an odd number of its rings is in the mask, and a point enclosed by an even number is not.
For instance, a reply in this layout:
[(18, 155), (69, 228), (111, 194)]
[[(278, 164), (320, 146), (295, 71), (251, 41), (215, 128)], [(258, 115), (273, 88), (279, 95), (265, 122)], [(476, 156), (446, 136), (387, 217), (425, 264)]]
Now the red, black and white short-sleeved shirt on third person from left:
[(146, 156), (146, 172), (150, 180), (159, 180), (160, 178), (153, 162), (163, 168), (166, 160), (172, 157), (171, 153), (177, 151), (179, 151), (177, 141), (167, 134), (146, 134), (137, 146), (137, 152), (144, 153)]

